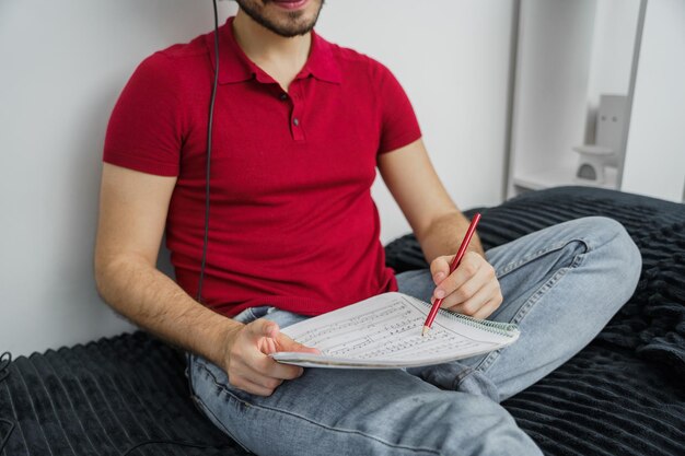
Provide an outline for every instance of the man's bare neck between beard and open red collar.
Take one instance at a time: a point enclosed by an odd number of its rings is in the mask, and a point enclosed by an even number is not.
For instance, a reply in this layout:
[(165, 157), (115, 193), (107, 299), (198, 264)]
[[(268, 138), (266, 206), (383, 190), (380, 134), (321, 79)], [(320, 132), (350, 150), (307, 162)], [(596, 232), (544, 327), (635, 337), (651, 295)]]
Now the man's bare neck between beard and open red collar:
[(278, 81), (286, 91), (306, 63), (312, 46), (311, 32), (286, 38), (256, 23), (240, 9), (233, 20), (233, 34), (249, 60)]

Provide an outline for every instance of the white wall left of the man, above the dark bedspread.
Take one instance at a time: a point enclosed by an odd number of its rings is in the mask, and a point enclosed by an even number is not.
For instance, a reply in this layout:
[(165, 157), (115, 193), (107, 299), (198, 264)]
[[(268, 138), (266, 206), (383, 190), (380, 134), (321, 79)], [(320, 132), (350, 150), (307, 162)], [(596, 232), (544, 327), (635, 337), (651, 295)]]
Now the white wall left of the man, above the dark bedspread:
[(140, 60), (212, 26), (197, 3), (0, 1), (0, 352), (130, 328), (92, 272), (105, 128)]

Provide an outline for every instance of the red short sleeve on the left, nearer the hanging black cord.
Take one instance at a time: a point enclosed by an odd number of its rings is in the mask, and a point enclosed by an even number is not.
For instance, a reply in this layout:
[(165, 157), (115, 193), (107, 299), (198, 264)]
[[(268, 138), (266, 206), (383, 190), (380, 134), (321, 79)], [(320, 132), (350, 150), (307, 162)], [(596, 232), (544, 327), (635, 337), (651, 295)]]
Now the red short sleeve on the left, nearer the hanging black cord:
[(177, 176), (183, 144), (182, 91), (170, 57), (142, 61), (119, 95), (103, 161), (160, 176)]

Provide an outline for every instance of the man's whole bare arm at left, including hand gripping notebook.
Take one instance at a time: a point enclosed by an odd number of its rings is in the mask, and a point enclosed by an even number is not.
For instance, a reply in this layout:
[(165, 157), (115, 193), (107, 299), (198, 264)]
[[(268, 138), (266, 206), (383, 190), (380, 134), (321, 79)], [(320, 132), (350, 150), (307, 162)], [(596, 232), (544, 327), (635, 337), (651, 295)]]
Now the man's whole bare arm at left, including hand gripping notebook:
[(173, 177), (104, 165), (95, 245), (97, 290), (137, 325), (223, 367), (232, 385), (270, 395), (302, 370), (266, 354), (304, 348), (271, 321), (245, 326), (214, 313), (155, 267), (175, 184)]

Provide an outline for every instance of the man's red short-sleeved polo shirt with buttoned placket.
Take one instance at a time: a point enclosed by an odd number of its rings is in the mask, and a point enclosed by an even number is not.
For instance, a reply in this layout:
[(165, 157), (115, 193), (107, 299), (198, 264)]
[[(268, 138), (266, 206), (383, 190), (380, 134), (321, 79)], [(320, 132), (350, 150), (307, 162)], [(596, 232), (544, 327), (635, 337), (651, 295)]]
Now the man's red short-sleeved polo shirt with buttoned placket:
[[(312, 35), (285, 93), (220, 28), (205, 302), (317, 315), (396, 290), (371, 199), (379, 154), (420, 138), (398, 82), (379, 62)], [(104, 161), (177, 176), (166, 245), (197, 294), (204, 236), (213, 34), (147, 58), (112, 114)]]

